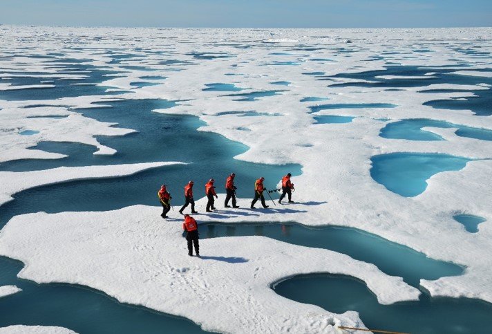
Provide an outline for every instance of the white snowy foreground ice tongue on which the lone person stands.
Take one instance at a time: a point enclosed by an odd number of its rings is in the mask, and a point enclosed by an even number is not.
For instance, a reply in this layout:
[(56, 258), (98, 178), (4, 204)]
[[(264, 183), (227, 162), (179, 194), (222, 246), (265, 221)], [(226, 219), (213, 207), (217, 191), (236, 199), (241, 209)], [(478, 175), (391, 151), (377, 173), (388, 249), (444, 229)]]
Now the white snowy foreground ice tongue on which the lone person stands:
[[(265, 237), (204, 239), (201, 259), (190, 259), (181, 225), (181, 220), (163, 222), (149, 206), (27, 214), (3, 228), (0, 254), (26, 263), (21, 278), (91, 286), (119, 301), (181, 315), (207, 331), (225, 333), (330, 333), (336, 322), (361, 325), (354, 314), (332, 315), (279, 297), (270, 288), (301, 273), (357, 277), (381, 304), (419, 295), (400, 277), (385, 275), (372, 264)], [(39, 240), (49, 240), (51, 246)]]

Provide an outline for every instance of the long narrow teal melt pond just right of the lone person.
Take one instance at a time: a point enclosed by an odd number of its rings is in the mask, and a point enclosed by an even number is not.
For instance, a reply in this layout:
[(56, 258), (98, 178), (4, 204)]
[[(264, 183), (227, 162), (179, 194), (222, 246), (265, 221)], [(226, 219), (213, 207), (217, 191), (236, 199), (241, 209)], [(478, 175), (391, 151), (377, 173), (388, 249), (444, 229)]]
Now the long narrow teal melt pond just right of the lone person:
[(461, 275), (463, 268), (452, 263), (428, 259), (424, 254), (402, 247), (385, 239), (351, 228), (306, 228), (299, 224), (240, 224), (207, 223), (200, 228), (202, 239), (220, 236), (260, 235), (272, 239), (325, 248), (348, 254), (354, 259), (374, 263), (391, 276), (403, 277), (411, 286), (418, 287), (422, 278), (438, 279)]

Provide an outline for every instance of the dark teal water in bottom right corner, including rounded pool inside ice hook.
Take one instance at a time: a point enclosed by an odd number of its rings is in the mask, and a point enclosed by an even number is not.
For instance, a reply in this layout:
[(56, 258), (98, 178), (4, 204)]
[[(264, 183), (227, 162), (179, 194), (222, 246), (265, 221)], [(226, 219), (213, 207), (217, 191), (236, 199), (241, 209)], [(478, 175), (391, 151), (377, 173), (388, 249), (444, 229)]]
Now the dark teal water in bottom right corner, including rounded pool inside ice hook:
[[(486, 333), (492, 326), (491, 304), (466, 298), (429, 298), (381, 305), (363, 282), (341, 276), (294, 277), (277, 284), (279, 295), (343, 313), (357, 310), (371, 329), (401, 333)], [(316, 290), (316, 293), (311, 293)], [(383, 315), (383, 316), (382, 316)]]

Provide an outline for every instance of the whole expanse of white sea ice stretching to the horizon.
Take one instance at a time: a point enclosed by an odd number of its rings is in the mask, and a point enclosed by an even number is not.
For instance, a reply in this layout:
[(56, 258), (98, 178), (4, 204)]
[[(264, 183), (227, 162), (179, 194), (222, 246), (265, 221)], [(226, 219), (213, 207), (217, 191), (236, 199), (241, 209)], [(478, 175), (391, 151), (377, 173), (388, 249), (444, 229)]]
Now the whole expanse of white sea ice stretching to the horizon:
[[(173, 108), (155, 111), (198, 116), (207, 123), (199, 131), (220, 133), (249, 147), (237, 159), (303, 165), (303, 174), (294, 179), (294, 199), (299, 204), (246, 215), (234, 212), (215, 217), (200, 215), (199, 221), (297, 221), (305, 225), (359, 228), (424, 252), (428, 257), (466, 268), (461, 276), (422, 280), (422, 286), (431, 295), (492, 302), (492, 258), (486, 255), (492, 252), (491, 143), (456, 136), (453, 128), (422, 128), (444, 139), (432, 142), (379, 136), (385, 126), (379, 121), (382, 119), (397, 122), (422, 118), (491, 130), (492, 119), (487, 113), (477, 116), (472, 109), (450, 110), (426, 105), (434, 100), (473, 102), (490, 91), (491, 72), (487, 71), (490, 60), (477, 57), (466, 48), (476, 44), (489, 53), (491, 28), (159, 30), (0, 26), (0, 30), (0, 43), (6, 46), (0, 50), (0, 77), (5, 78), (0, 94), (15, 93), (5, 89), (16, 86), (27, 88), (19, 84), (22, 72), (26, 71), (30, 71), (28, 77), (34, 80), (30, 82), (32, 88), (41, 85), (35, 80), (44, 79), (55, 82), (55, 88), (50, 91), (57, 89), (58, 78), (82, 83), (91, 73), (77, 69), (77, 64), (88, 64), (110, 72), (100, 78), (97, 86), (108, 87), (104, 93), (117, 93), (117, 98), (186, 100)], [(101, 39), (102, 35), (106, 38)], [(65, 42), (77, 49), (67, 48)], [(44, 62), (46, 58), (21, 57), (15, 50), (19, 45), (32, 55), (55, 59), (50, 63)], [(121, 52), (111, 53), (115, 48)], [(47, 55), (48, 50), (59, 54)], [(64, 58), (68, 62), (64, 69), (53, 66), (63, 63)], [(308, 62), (310, 59), (333, 61)], [(395, 75), (390, 71), (392, 66), (401, 66), (402, 72), (416, 66), (422, 74)], [(378, 71), (378, 75), (360, 75), (373, 71)], [(348, 74), (357, 77), (343, 77)], [(146, 75), (167, 78), (158, 85), (133, 89), (131, 83), (142, 82)], [(446, 76), (451, 79), (446, 81)], [(458, 76), (464, 81), (456, 80)], [(14, 84), (9, 80), (14, 80)], [(240, 99), (230, 94), (224, 96), (220, 91), (204, 91), (204, 87), (216, 82), (248, 88), (241, 93), (264, 93), (272, 89), (271, 82), (287, 81), (295, 83), (288, 86), (288, 91), (260, 99), (253, 96), (248, 101), (244, 101), (244, 95)], [(392, 82), (395, 86), (391, 86)], [(84, 86), (73, 85), (78, 89)], [(133, 91), (128, 93), (125, 91), (128, 89)], [(320, 104), (312, 97), (329, 99), (322, 103), (330, 102), (339, 108), (319, 109), (312, 114), (310, 107)], [(108, 96), (81, 95), (42, 101), (0, 98), (0, 161), (62, 158), (61, 154), (28, 149), (46, 140), (82, 142), (97, 147), (98, 154), (115, 154), (111, 147), (100, 145), (94, 136), (122, 136), (132, 130), (97, 122), (77, 112), (104, 100), (108, 101)], [(395, 107), (382, 108), (375, 103)], [(35, 106), (39, 104), (43, 105)], [(343, 108), (348, 104), (356, 107)], [(363, 108), (362, 104), (372, 106)], [(33, 105), (34, 108), (26, 108)], [(242, 110), (253, 111), (257, 117), (230, 113)], [(67, 117), (49, 119), (43, 115)], [(323, 115), (353, 117), (353, 120), (316, 124), (316, 117)], [(39, 133), (19, 136), (25, 130)], [(426, 180), (428, 185), (422, 194), (406, 198), (388, 191), (370, 177), (373, 156), (400, 152), (447, 154), (476, 160), (460, 171), (435, 174)], [(12, 194), (30, 187), (126, 175), (162, 164), (77, 167), (19, 174), (0, 172), (3, 191), (0, 202), (10, 201)], [(321, 204), (309, 205), (312, 201)], [(248, 204), (247, 199), (240, 200), (241, 206)], [(198, 201), (199, 210), (203, 206), (203, 200)], [(336, 319), (344, 324), (359, 322), (352, 313), (332, 315), (315, 306), (281, 299), (268, 288), (273, 281), (316, 272), (316, 268), (363, 279), (381, 302), (405, 300), (417, 293), (372, 265), (334, 252), (300, 248), (261, 237), (202, 241), (203, 254), (216, 258), (198, 262), (184, 256), (185, 244), (178, 231), (178, 221), (163, 223), (160, 217), (154, 219), (158, 211), (158, 207), (138, 206), (116, 212), (17, 216), (2, 230), (0, 249), (3, 254), (26, 263), (23, 277), (86, 284), (122, 301), (184, 315), (215, 331), (231, 331), (229, 326), (238, 326), (245, 331), (316, 332), (332, 331)], [(477, 214), (486, 221), (478, 232), (469, 233), (453, 219), (456, 212)], [(77, 225), (80, 217), (87, 226)], [(107, 229), (102, 230), (103, 227)], [(46, 237), (38, 239), (39, 236)], [(97, 247), (104, 247), (103, 252), (96, 248), (95, 241), (102, 241)], [(57, 252), (55, 243), (64, 252)], [(75, 249), (72, 243), (81, 248)], [(121, 254), (115, 249), (121, 250)], [(176, 255), (168, 259), (167, 250)], [(69, 263), (74, 257), (80, 259), (82, 266)], [(247, 261), (231, 263), (234, 259)], [(254, 278), (256, 271), (258, 279)], [(93, 272), (97, 275), (91, 275)], [(386, 285), (387, 290), (381, 292), (381, 285)], [(196, 296), (183, 297), (183, 292)], [(207, 311), (218, 316), (206, 317), (205, 305)], [(187, 306), (196, 306), (200, 312), (189, 314), (185, 310)], [(275, 308), (280, 313), (274, 312)], [(314, 319), (306, 316), (311, 313), (317, 314)]]

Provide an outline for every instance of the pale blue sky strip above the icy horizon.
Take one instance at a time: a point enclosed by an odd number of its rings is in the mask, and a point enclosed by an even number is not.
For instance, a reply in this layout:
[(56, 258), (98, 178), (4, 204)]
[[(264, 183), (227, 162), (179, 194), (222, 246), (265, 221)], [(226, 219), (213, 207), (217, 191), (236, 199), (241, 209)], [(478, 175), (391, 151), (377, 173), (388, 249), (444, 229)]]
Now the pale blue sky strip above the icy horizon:
[(492, 0), (0, 0), (0, 24), (217, 28), (492, 26)]

